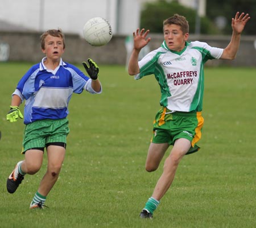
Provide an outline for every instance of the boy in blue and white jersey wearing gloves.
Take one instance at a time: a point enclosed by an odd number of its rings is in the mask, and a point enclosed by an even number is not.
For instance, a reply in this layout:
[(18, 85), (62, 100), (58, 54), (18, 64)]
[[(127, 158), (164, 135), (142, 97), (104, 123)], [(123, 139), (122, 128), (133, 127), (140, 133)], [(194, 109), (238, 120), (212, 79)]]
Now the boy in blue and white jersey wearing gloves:
[(24, 106), (24, 160), (19, 161), (7, 179), (7, 190), (14, 193), (24, 175), (34, 175), (42, 166), (44, 148), (47, 151), (47, 172), (40, 182), (38, 191), (31, 201), (30, 209), (44, 208), (44, 202), (59, 177), (65, 157), (68, 127), (68, 103), (72, 93), (83, 90), (92, 94), (102, 92), (98, 80), (98, 67), (93, 60), (82, 63), (88, 73), (85, 76), (74, 65), (65, 63), (61, 56), (65, 49), (64, 34), (60, 30), (48, 30), (41, 37), (42, 61), (32, 66), (18, 82), (7, 121), (16, 122), (23, 118), (19, 110)]

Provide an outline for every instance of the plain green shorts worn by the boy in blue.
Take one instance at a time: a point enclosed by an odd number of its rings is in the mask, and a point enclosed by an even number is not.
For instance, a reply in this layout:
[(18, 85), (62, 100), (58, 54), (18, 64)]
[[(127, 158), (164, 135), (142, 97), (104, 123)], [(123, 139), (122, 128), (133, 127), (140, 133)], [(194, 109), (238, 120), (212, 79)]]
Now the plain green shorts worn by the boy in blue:
[(26, 125), (22, 154), (31, 148), (44, 148), (47, 143), (67, 143), (68, 119), (43, 119)]

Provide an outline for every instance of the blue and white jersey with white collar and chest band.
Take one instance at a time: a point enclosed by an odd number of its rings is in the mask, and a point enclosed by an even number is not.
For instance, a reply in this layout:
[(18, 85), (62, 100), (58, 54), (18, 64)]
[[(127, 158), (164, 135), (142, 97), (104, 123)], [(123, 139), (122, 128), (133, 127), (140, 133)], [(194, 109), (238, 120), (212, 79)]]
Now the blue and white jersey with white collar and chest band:
[(18, 82), (15, 92), (24, 106), (24, 123), (32, 123), (39, 119), (62, 119), (68, 115), (68, 103), (72, 93), (82, 93), (85, 89), (89, 93), (92, 80), (85, 76), (77, 67), (64, 63), (61, 59), (59, 66), (53, 71), (41, 63), (32, 66)]

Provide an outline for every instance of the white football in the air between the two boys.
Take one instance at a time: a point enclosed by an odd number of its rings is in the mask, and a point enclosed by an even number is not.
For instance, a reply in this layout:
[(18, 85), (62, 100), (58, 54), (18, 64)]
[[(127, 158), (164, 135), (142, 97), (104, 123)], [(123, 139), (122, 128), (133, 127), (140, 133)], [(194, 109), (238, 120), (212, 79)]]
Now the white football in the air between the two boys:
[(92, 18), (84, 24), (84, 39), (93, 46), (103, 46), (112, 39), (112, 28), (104, 18)]

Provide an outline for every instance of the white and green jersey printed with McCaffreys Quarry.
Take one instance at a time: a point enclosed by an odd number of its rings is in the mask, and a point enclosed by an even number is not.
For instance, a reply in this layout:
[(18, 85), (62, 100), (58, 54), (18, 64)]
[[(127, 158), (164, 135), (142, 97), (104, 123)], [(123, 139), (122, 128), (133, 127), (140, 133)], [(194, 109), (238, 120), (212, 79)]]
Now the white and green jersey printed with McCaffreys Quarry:
[(171, 51), (164, 41), (139, 61), (135, 79), (154, 74), (161, 89), (160, 105), (171, 111), (201, 111), (204, 94), (204, 63), (220, 59), (222, 48), (203, 42), (186, 42), (181, 52)]

